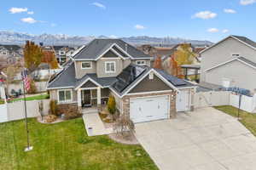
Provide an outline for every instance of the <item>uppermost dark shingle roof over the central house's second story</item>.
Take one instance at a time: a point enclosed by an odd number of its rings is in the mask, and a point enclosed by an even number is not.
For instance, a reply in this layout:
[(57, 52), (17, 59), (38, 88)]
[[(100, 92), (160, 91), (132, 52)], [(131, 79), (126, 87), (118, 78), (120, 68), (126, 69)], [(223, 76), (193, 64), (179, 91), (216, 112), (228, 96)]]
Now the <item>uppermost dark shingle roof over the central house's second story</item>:
[(143, 54), (142, 51), (134, 48), (130, 44), (120, 39), (95, 39), (88, 43), (78, 54), (74, 56), (74, 59), (96, 59), (105, 50), (110, 48), (113, 43), (116, 43), (120, 48), (125, 51), (125, 44), (127, 44), (127, 52), (133, 58), (148, 58), (151, 57), (147, 54)]

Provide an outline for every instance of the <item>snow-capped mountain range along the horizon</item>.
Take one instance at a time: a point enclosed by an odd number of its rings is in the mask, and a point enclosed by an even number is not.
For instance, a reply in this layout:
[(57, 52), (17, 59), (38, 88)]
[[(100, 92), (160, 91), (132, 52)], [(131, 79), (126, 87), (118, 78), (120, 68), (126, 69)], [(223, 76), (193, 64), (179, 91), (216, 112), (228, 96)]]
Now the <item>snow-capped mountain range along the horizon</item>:
[[(36, 43), (44, 42), (45, 45), (69, 45), (79, 46), (95, 38), (117, 38), (107, 36), (67, 36), (66, 34), (41, 34), (32, 35), (28, 33), (15, 32), (15, 31), (0, 31), (0, 43), (2, 44), (24, 44), (26, 40), (30, 40)], [(173, 44), (188, 42), (195, 46), (212, 45), (210, 41), (191, 40), (178, 37), (148, 37), (148, 36), (137, 36), (137, 37), (119, 37), (125, 42), (133, 45), (152, 44), (152, 45), (163, 45), (171, 46)]]

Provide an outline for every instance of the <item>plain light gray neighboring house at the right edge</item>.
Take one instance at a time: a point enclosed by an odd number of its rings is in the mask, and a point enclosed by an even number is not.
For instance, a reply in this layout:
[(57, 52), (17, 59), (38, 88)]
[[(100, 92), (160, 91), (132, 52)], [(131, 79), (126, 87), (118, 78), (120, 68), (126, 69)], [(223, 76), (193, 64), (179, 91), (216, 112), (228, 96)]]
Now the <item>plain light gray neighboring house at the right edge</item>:
[(229, 36), (201, 51), (201, 82), (256, 89), (256, 42)]

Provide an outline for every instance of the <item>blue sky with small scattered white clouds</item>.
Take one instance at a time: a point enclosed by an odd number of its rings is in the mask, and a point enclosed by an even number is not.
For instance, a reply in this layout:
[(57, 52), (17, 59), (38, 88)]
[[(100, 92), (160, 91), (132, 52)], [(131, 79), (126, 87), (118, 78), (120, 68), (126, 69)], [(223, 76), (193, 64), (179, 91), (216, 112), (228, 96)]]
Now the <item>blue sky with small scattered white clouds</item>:
[(256, 0), (2, 0), (0, 31), (256, 41)]

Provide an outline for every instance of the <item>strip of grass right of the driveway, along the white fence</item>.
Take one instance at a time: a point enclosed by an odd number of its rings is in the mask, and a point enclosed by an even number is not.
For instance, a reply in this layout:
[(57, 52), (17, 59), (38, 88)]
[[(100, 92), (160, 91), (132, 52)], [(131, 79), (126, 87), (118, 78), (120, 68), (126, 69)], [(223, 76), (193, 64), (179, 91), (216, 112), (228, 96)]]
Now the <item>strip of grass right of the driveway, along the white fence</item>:
[[(230, 105), (224, 105), (224, 106), (215, 106), (215, 109), (218, 109), (219, 111), (223, 111), (224, 113), (229, 114), (230, 116), (237, 117), (237, 111), (238, 109), (236, 107), (230, 106)], [(241, 120), (240, 122), (247, 127), (248, 130), (250, 130), (254, 136), (256, 136), (256, 115), (252, 113), (248, 113), (247, 111), (240, 111)]]

